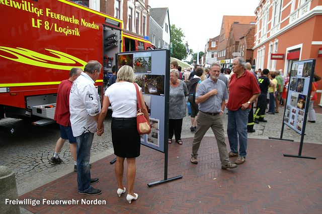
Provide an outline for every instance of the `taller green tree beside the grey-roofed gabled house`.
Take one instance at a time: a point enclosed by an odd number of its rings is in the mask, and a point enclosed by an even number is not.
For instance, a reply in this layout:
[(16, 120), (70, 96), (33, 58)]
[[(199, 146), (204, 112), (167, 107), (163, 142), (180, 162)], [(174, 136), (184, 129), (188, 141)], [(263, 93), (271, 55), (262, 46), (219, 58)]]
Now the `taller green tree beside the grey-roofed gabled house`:
[(186, 45), (183, 43), (185, 38), (181, 28), (171, 25), (171, 43), (172, 43), (172, 57), (183, 60), (187, 58)]

